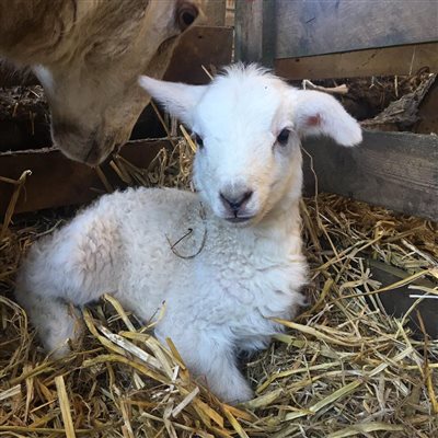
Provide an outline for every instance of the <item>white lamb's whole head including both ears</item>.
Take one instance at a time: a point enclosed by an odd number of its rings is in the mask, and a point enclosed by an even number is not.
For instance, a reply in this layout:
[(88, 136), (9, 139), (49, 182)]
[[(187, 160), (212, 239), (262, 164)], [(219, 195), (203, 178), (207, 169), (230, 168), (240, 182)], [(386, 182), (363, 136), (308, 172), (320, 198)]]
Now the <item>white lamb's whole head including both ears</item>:
[(301, 91), (256, 66), (237, 65), (209, 85), (141, 77), (140, 84), (194, 132), (196, 188), (230, 222), (254, 223), (301, 195), (300, 138), (343, 146), (361, 130), (332, 96)]

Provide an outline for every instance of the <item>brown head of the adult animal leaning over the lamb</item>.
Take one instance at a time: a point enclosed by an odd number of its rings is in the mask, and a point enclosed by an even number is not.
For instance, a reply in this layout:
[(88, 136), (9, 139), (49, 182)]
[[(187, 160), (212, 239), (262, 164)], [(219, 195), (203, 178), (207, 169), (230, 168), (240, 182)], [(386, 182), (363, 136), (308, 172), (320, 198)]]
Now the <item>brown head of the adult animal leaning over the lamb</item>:
[(129, 138), (204, 0), (15, 0), (0, 5), (0, 55), (32, 66), (51, 112), (54, 143), (95, 165)]

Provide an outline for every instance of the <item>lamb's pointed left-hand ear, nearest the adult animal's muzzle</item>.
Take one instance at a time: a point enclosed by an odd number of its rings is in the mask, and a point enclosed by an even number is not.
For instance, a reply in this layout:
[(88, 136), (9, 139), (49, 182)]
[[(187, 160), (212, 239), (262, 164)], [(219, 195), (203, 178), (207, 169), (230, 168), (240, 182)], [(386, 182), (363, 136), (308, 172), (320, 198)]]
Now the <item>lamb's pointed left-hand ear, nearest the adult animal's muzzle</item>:
[(166, 82), (147, 76), (140, 76), (138, 83), (161, 103), (169, 114), (178, 118), (189, 128), (193, 127), (193, 111), (205, 93), (207, 85)]

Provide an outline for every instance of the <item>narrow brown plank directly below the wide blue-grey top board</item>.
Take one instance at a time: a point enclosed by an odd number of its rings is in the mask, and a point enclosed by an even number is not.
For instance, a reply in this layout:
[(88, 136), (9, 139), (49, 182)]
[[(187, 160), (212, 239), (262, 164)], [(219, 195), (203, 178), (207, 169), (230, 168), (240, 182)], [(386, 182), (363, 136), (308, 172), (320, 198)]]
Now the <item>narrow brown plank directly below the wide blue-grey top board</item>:
[(438, 72), (438, 43), (275, 61), (276, 72), (289, 80), (415, 74), (423, 68)]

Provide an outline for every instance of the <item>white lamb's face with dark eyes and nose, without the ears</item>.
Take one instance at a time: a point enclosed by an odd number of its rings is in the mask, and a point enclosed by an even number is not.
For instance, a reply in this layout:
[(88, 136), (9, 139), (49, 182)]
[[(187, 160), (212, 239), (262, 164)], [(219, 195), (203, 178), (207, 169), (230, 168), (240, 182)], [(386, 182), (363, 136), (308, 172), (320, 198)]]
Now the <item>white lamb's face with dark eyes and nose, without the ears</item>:
[(220, 78), (194, 120), (194, 183), (216, 216), (254, 223), (285, 195), (299, 197), (300, 140), (285, 83), (269, 76)]

